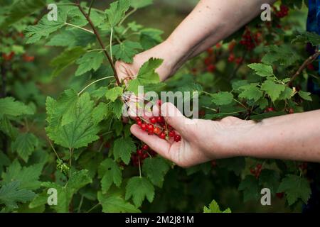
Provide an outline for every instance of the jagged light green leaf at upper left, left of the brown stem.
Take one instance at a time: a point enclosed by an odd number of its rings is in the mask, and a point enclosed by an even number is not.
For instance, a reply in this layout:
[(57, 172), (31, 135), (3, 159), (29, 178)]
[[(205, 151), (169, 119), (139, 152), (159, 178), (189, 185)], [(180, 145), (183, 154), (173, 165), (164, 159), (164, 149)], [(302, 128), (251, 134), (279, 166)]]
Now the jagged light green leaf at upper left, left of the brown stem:
[(58, 7), (57, 21), (49, 21), (47, 15), (45, 15), (36, 26), (28, 26), (26, 28), (26, 43), (36, 43), (41, 38), (48, 38), (51, 33), (65, 26), (66, 21), (67, 13), (63, 10), (63, 7)]

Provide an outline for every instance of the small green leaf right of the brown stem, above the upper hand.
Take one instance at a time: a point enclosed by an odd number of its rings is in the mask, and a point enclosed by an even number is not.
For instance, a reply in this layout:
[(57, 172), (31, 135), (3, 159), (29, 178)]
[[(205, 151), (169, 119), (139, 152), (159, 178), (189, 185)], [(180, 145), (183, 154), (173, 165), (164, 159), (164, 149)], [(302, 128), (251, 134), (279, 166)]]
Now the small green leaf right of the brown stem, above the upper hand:
[(132, 63), (133, 57), (142, 49), (140, 43), (132, 41), (124, 41), (120, 44), (112, 46), (112, 52), (117, 60)]

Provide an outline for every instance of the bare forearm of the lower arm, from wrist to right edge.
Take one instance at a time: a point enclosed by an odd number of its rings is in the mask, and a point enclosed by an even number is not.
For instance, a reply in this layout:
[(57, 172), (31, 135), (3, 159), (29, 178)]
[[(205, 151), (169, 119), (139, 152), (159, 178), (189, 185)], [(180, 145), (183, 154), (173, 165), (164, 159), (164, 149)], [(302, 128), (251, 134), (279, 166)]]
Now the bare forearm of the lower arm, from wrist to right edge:
[(320, 110), (257, 123), (242, 150), (250, 157), (320, 162)]

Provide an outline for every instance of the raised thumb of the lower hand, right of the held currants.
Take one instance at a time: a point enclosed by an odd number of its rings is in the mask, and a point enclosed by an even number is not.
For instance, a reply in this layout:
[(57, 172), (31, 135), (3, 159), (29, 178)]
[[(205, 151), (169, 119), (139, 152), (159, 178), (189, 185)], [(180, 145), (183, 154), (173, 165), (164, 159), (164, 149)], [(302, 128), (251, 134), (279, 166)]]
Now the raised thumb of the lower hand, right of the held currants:
[(191, 119), (186, 118), (181, 114), (174, 104), (166, 102), (161, 105), (161, 116), (164, 117), (167, 123), (174, 127), (182, 136), (186, 135), (186, 126), (190, 124)]

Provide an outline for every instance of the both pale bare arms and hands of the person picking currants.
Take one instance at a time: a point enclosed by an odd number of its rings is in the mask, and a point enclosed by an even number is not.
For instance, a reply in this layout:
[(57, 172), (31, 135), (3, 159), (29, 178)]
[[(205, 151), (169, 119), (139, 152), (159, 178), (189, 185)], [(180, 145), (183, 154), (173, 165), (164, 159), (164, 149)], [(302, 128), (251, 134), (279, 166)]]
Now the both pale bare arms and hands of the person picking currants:
[[(167, 79), (188, 59), (252, 20), (265, 3), (274, 1), (199, 1), (163, 43), (136, 55), (132, 64), (117, 62), (119, 77), (133, 78), (146, 60), (156, 57), (164, 60), (157, 69), (159, 77)], [(157, 113), (158, 109), (154, 111)], [(221, 121), (191, 120), (169, 103), (161, 106), (161, 114), (181, 135), (180, 142), (171, 143), (148, 135), (137, 125), (131, 131), (151, 149), (181, 167), (240, 156), (320, 162), (320, 110), (267, 118), (259, 123), (235, 117)]]

